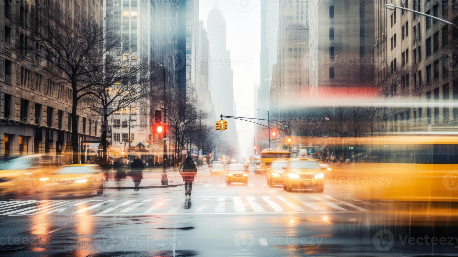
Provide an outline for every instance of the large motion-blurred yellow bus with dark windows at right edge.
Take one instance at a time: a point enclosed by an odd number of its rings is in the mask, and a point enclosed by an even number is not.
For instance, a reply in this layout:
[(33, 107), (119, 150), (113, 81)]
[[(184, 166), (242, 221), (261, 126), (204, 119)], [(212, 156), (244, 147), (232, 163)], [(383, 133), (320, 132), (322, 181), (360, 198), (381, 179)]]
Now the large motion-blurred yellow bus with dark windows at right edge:
[(458, 201), (458, 135), (340, 138), (329, 185), (374, 200)]

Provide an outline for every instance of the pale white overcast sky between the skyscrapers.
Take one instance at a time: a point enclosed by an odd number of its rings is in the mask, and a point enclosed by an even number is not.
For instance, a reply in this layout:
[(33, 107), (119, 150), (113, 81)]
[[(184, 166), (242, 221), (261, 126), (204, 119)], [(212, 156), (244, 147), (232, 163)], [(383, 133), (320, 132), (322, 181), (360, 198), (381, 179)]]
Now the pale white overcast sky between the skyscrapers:
[[(236, 116), (254, 117), (254, 87), (259, 84), (259, 53), (261, 13), (260, 1), (200, 0), (200, 19), (207, 28), (208, 13), (217, 6), (224, 13), (227, 25), (227, 48), (235, 57), (234, 98)], [(213, 103), (218, 104), (218, 103)], [(228, 128), (234, 129), (234, 128)], [(237, 123), (242, 156), (249, 157), (253, 149), (253, 126)], [(247, 152), (250, 150), (250, 152)]]

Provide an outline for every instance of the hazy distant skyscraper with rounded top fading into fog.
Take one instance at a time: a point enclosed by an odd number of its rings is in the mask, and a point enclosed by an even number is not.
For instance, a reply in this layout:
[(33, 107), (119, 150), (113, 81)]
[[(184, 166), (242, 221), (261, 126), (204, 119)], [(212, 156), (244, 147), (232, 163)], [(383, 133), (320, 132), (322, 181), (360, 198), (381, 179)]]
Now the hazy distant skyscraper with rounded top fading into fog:
[[(218, 8), (207, 18), (207, 36), (210, 44), (209, 80), (216, 116), (235, 114), (234, 72), (230, 64), (230, 51), (226, 49), (226, 21)], [(233, 120), (228, 120), (227, 138), (238, 149), (237, 131)]]

